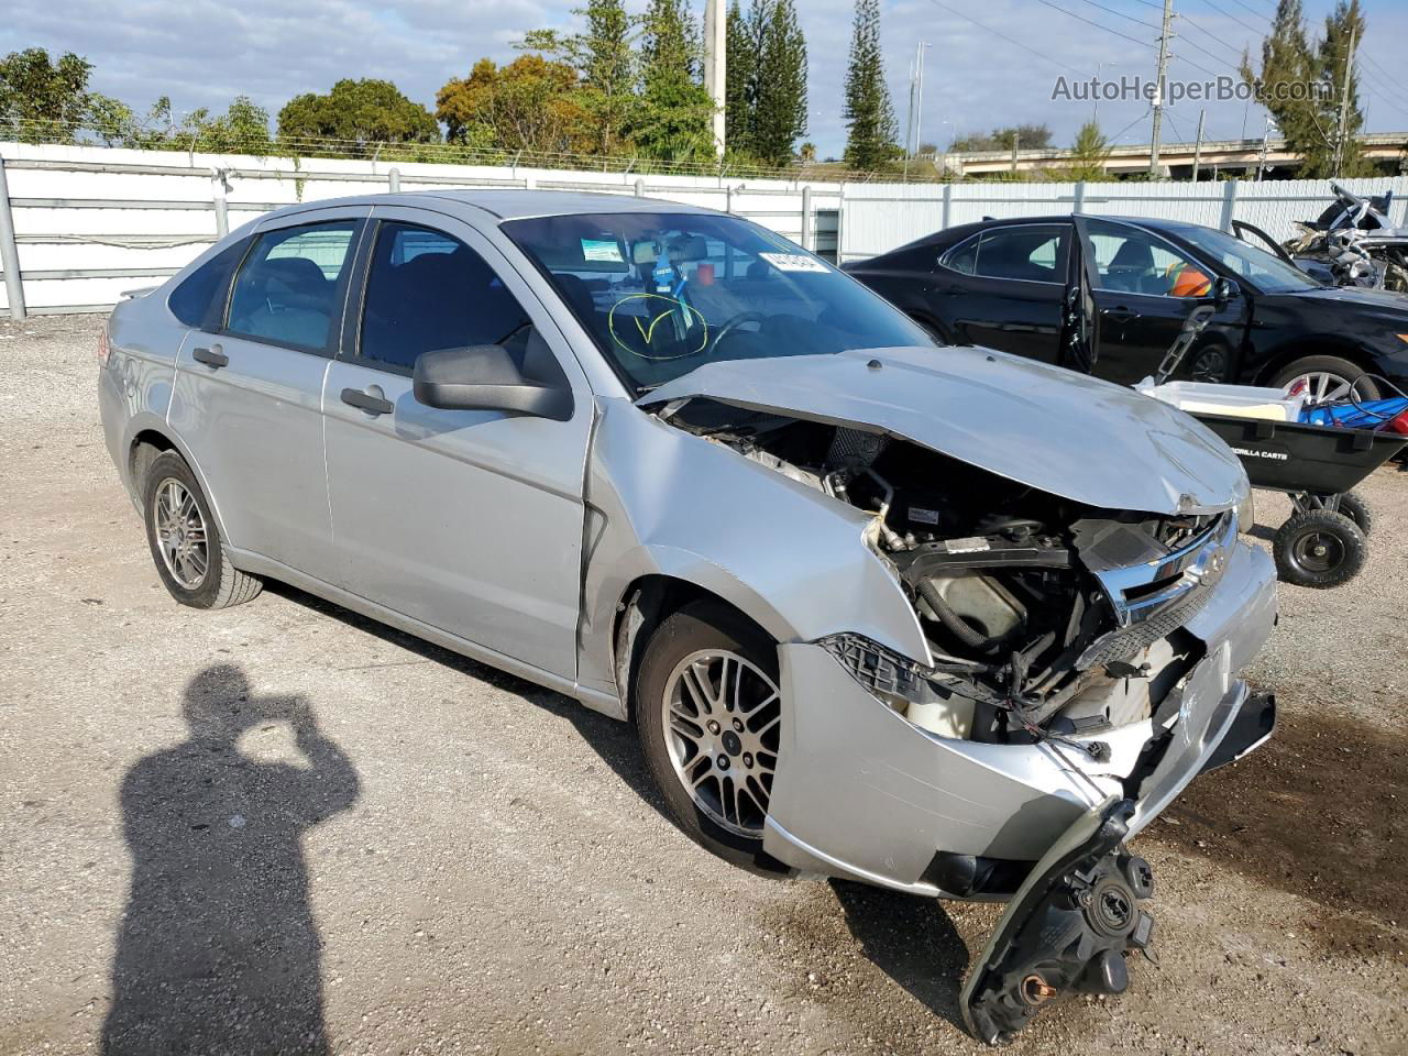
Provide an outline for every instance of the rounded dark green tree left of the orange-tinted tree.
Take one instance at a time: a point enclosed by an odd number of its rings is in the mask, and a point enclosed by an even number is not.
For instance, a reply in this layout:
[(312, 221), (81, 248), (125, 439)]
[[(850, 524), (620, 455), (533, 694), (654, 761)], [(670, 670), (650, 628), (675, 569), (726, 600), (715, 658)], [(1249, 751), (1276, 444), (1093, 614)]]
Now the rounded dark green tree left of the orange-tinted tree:
[(279, 111), (279, 138), (342, 139), (339, 151), (366, 153), (370, 144), (431, 144), (441, 135), (424, 106), (390, 80), (367, 77), (339, 80), (325, 96), (308, 92), (290, 99)]

